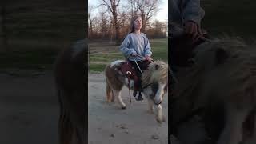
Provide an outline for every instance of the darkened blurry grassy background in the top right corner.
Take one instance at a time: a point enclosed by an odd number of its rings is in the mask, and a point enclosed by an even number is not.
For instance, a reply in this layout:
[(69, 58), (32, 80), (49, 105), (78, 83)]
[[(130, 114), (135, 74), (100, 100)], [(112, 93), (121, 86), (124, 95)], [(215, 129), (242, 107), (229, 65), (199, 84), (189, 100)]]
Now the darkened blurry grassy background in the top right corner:
[(201, 0), (201, 5), (206, 12), (202, 26), (209, 34), (255, 38), (256, 1)]

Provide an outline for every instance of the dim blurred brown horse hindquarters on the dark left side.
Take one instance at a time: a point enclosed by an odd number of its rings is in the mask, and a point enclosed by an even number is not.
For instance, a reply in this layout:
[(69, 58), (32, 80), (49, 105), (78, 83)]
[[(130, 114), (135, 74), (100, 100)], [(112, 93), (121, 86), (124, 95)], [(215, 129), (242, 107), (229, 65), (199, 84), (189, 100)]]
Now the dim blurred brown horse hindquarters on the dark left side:
[(58, 54), (54, 76), (58, 90), (60, 144), (86, 144), (87, 40), (76, 42)]

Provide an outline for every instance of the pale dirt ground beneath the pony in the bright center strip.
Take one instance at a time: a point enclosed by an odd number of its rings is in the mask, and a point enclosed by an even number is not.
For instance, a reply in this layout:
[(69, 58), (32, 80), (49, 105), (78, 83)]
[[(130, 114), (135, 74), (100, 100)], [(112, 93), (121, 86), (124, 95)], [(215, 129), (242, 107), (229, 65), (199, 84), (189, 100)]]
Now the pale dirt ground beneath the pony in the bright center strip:
[(90, 144), (167, 144), (168, 99), (164, 98), (163, 114), (166, 122), (159, 125), (147, 110), (146, 99), (130, 104), (128, 88), (122, 90), (126, 110), (118, 103), (108, 104), (103, 74), (89, 74), (89, 143)]

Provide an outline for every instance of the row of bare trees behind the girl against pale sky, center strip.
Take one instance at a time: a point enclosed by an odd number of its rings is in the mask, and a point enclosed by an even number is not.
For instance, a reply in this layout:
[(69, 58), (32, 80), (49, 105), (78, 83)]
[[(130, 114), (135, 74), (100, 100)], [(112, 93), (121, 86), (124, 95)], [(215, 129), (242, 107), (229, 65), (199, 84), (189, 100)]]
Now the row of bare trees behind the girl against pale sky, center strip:
[(101, 4), (88, 9), (88, 37), (120, 42), (130, 33), (130, 19), (134, 15), (142, 16), (142, 32), (149, 38), (166, 38), (166, 22), (153, 20), (157, 14), (159, 0), (100, 0)]

